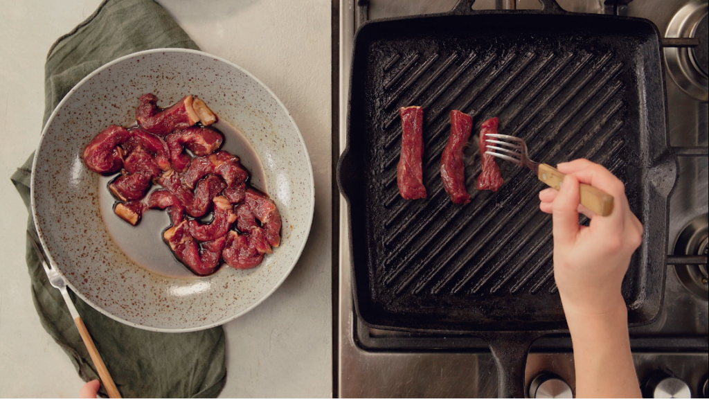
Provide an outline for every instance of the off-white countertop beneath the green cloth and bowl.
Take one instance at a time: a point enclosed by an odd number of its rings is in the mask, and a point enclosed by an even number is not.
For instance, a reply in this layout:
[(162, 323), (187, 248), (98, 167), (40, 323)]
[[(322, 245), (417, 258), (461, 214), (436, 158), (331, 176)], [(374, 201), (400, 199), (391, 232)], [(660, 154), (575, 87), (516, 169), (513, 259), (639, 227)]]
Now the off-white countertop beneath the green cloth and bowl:
[[(50, 45), (99, 0), (0, 1), (0, 397), (76, 397), (83, 381), (40, 326), (25, 263), (25, 207), (10, 176), (42, 130)], [(274, 295), (226, 324), (222, 397), (332, 395), (330, 0), (162, 0), (202, 50), (252, 72), (291, 111), (313, 162), (316, 213)]]

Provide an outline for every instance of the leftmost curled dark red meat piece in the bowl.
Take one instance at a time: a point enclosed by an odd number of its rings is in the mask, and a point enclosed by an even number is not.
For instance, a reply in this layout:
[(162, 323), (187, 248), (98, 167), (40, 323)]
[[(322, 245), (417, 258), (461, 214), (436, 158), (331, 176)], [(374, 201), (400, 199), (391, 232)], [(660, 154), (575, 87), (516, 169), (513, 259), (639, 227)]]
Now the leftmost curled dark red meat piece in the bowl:
[(84, 147), (84, 163), (92, 172), (110, 175), (123, 168), (123, 149), (118, 145), (130, 138), (130, 132), (121, 126), (111, 125), (97, 134)]

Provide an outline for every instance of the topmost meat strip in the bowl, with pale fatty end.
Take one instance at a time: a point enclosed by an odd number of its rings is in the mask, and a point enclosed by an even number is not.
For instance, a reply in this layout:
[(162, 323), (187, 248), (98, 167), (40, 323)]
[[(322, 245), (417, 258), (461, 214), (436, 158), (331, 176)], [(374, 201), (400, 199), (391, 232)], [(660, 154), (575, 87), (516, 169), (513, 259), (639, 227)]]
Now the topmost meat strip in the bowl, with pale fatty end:
[(166, 136), (196, 124), (199, 122), (199, 115), (192, 107), (192, 96), (183, 97), (179, 102), (162, 110), (157, 106), (155, 94), (148, 93), (140, 97), (140, 106), (135, 109), (135, 119), (146, 131)]

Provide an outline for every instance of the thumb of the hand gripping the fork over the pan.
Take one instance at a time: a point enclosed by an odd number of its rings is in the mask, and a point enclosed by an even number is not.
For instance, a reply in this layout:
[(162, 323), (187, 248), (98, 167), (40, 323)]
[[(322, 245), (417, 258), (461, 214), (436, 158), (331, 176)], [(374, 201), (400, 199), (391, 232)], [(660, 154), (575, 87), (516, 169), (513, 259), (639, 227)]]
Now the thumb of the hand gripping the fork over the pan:
[(562, 190), (554, 198), (552, 218), (554, 221), (554, 247), (574, 244), (579, 234), (579, 180), (566, 175)]

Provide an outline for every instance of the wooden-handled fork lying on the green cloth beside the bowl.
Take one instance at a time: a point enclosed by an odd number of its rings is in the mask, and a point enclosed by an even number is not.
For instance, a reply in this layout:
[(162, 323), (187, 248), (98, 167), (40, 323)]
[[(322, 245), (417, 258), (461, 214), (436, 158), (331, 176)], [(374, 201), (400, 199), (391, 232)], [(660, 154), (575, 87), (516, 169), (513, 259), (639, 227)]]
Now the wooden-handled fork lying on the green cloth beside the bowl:
[(30, 240), (32, 246), (35, 248), (37, 257), (39, 258), (40, 263), (42, 263), (42, 267), (45, 269), (45, 273), (47, 273), (49, 283), (52, 285), (52, 287), (57, 288), (57, 290), (62, 293), (62, 297), (64, 297), (64, 302), (67, 302), (69, 314), (72, 315), (72, 319), (74, 319), (74, 324), (77, 324), (79, 334), (81, 334), (82, 339), (84, 340), (84, 345), (86, 345), (86, 349), (89, 351), (89, 355), (91, 355), (91, 360), (94, 361), (94, 366), (96, 366), (96, 371), (99, 372), (101, 382), (104, 383), (104, 387), (106, 388), (106, 393), (108, 393), (108, 397), (121, 398), (121, 393), (118, 392), (118, 388), (116, 388), (116, 383), (113, 383), (113, 378), (111, 378), (111, 373), (108, 373), (108, 368), (106, 368), (106, 364), (104, 364), (104, 359), (101, 359), (101, 354), (99, 354), (99, 350), (96, 349), (94, 340), (91, 339), (91, 335), (89, 335), (89, 330), (86, 329), (82, 317), (79, 316), (77, 308), (74, 307), (74, 302), (72, 302), (72, 298), (69, 297), (69, 292), (67, 291), (67, 282), (64, 280), (62, 275), (60, 275), (54, 265), (47, 265), (44, 253), (40, 248), (40, 244), (37, 242), (33, 234), (31, 234), (29, 231), (27, 231), (27, 238)]

